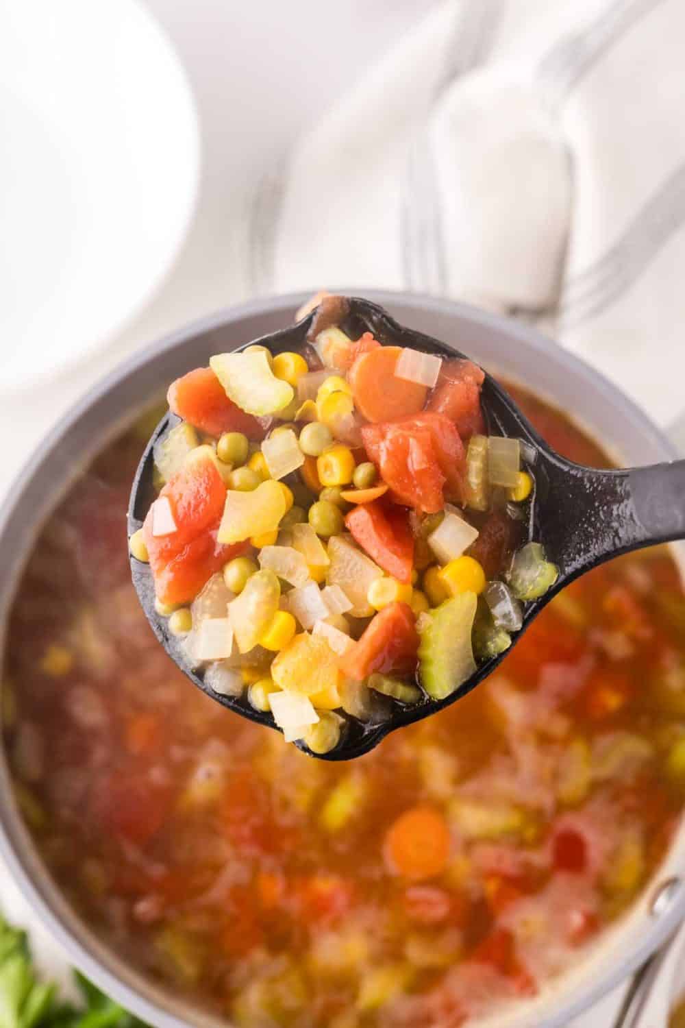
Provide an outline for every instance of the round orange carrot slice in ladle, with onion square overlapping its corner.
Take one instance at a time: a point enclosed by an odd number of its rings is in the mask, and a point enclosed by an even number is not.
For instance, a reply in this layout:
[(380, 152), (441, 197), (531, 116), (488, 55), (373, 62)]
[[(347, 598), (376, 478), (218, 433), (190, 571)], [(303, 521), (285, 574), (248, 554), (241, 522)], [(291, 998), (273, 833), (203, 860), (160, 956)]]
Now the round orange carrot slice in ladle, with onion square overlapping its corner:
[(354, 405), (368, 421), (391, 421), (423, 410), (428, 390), (394, 374), (402, 346), (379, 346), (361, 354), (348, 381)]

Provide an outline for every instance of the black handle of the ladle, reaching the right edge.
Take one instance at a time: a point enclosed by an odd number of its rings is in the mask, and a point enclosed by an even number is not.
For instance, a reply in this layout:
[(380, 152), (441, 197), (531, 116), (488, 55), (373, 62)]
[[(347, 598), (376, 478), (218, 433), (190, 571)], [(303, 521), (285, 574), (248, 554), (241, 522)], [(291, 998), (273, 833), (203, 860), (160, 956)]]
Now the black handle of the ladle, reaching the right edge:
[(610, 557), (685, 539), (685, 461), (603, 471), (550, 464), (538, 538), (565, 584)]

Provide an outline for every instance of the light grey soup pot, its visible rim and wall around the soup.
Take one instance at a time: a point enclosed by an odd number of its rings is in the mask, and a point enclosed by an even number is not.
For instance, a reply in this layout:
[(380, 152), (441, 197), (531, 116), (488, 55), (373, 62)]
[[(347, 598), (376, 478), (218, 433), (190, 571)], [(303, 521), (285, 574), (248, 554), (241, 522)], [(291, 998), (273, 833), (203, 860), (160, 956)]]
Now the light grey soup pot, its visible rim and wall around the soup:
[[(448, 301), (373, 292), (399, 322), (470, 355), (494, 373), (519, 380), (568, 411), (625, 464), (675, 456), (669, 440), (611, 382), (533, 329)], [(151, 401), (164, 383), (212, 354), (232, 350), (293, 321), (303, 296), (256, 301), (213, 315), (154, 343), (96, 387), (50, 434), (15, 483), (0, 518), (0, 645), (15, 586), (50, 511), (98, 450)], [(122, 524), (122, 545), (125, 526)], [(189, 686), (190, 688), (190, 686)], [(80, 920), (43, 865), (14, 804), (0, 757), (0, 846), (29, 902), (73, 963), (125, 1007), (159, 1028), (218, 1025), (141, 977)], [(497, 1028), (555, 1028), (640, 967), (685, 915), (685, 830), (632, 910), (576, 965)], [(483, 1028), (490, 1023), (482, 1022)], [(225, 1022), (223, 1022), (225, 1025)]]

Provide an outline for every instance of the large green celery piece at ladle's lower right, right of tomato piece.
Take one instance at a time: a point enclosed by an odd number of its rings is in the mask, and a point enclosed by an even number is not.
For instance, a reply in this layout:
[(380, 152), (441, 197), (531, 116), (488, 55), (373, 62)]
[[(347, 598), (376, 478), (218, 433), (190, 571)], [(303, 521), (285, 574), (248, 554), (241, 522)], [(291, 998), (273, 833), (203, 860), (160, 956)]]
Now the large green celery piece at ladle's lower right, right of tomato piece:
[(477, 605), (474, 592), (446, 599), (421, 632), (421, 682), (434, 700), (450, 696), (475, 671), (471, 631)]

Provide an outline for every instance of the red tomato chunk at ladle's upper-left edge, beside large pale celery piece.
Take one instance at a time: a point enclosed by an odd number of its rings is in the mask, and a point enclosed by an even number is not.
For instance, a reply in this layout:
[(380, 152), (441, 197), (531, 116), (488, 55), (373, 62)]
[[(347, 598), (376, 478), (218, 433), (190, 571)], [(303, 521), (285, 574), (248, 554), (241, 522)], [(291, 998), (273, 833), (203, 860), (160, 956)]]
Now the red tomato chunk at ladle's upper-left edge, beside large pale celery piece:
[(169, 408), (184, 421), (208, 436), (224, 432), (242, 432), (248, 439), (261, 441), (267, 423), (240, 410), (229, 400), (212, 368), (195, 368), (172, 382), (166, 395)]

